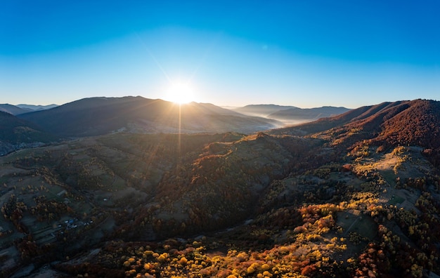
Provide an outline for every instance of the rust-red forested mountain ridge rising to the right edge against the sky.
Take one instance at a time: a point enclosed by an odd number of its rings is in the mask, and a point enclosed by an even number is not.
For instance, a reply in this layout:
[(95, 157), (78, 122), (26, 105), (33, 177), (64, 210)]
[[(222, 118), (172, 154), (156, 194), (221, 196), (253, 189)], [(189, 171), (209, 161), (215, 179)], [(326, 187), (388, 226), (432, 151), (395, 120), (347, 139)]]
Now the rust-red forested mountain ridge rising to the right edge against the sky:
[(313, 121), (299, 126), (280, 128), (271, 134), (314, 135), (335, 144), (347, 140), (370, 140), (389, 145), (420, 145), (440, 147), (440, 102), (412, 100), (383, 102), (380, 105), (360, 107), (336, 117)]

